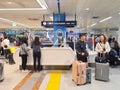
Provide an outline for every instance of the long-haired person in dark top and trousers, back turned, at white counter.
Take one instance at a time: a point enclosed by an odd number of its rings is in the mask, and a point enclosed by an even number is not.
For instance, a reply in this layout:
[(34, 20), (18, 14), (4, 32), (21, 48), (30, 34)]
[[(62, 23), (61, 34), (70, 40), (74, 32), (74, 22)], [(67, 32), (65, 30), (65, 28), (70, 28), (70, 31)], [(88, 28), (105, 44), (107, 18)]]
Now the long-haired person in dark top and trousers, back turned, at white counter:
[[(41, 59), (41, 43), (39, 40), (39, 37), (35, 37), (35, 40), (33, 41), (31, 48), (33, 49), (33, 59), (34, 59), (34, 70), (40, 71), (41, 65), (40, 65), (40, 59)], [(36, 62), (38, 62), (38, 66), (36, 66)]]

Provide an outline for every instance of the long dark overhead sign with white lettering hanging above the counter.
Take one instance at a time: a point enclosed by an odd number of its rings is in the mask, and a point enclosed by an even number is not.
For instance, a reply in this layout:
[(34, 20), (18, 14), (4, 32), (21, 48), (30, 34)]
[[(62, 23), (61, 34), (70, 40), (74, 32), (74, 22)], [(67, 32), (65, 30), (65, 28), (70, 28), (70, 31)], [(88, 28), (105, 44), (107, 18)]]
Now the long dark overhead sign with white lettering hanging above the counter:
[(77, 21), (42, 21), (41, 25), (48, 28), (53, 26), (74, 27), (77, 25)]

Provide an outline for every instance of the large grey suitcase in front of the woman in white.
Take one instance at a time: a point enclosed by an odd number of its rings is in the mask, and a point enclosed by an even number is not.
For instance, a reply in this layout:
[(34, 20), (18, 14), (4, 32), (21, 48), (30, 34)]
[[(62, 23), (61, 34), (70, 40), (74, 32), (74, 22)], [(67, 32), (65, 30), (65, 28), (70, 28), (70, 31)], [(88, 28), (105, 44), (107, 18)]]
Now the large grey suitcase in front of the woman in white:
[(95, 79), (109, 81), (109, 63), (96, 63)]

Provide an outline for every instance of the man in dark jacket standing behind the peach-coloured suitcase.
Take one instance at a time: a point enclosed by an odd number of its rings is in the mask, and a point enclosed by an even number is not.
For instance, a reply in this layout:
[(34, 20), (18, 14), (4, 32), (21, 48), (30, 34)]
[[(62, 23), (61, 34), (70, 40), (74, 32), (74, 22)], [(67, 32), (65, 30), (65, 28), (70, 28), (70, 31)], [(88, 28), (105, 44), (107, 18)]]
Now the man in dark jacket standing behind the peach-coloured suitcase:
[(80, 40), (76, 43), (77, 60), (87, 62), (88, 53), (86, 50), (85, 34), (80, 34)]

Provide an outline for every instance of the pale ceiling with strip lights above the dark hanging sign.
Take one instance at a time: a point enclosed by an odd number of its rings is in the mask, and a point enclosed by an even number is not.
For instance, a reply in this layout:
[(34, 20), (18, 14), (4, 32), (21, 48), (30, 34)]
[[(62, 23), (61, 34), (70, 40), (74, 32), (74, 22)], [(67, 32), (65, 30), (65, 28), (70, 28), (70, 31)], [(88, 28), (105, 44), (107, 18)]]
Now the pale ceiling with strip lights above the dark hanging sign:
[[(52, 14), (58, 13), (57, 0), (40, 0), (46, 2), (46, 8), (37, 0), (21, 1), (0, 0), (0, 28), (43, 28), (41, 27), (43, 15), (45, 20), (52, 20)], [(76, 14), (77, 27), (80, 28), (118, 28), (120, 26), (118, 14), (120, 0), (60, 0), (60, 10), (61, 13), (66, 13), (67, 20), (74, 20)], [(111, 19), (99, 22), (110, 16), (112, 16)], [(12, 26), (13, 22), (17, 23), (16, 27)]]

